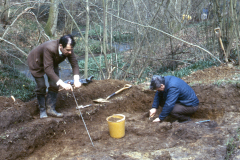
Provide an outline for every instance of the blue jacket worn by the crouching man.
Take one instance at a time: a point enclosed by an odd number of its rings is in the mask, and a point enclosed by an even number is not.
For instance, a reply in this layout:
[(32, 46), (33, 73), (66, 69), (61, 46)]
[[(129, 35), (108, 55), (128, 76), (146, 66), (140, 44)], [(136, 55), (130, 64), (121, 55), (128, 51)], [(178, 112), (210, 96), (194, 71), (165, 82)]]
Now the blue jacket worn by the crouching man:
[(198, 106), (199, 100), (193, 89), (182, 79), (174, 76), (165, 76), (165, 89), (164, 91), (157, 91), (153, 100), (152, 108), (158, 108), (160, 101), (165, 101), (159, 119), (162, 121), (166, 118), (175, 103), (180, 103), (185, 106), (195, 107)]

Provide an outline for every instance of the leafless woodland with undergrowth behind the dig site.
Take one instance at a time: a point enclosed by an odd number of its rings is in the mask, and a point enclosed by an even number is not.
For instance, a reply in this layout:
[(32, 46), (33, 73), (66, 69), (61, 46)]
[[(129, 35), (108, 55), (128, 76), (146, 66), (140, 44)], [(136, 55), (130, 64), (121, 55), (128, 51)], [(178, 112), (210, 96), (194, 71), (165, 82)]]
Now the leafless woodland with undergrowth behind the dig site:
[(181, 78), (240, 62), (237, 0), (0, 2), (0, 95), (33, 96), (34, 82), (18, 73), (19, 66), (27, 66), (34, 47), (65, 34), (75, 36), (82, 78), (140, 83), (154, 74)]

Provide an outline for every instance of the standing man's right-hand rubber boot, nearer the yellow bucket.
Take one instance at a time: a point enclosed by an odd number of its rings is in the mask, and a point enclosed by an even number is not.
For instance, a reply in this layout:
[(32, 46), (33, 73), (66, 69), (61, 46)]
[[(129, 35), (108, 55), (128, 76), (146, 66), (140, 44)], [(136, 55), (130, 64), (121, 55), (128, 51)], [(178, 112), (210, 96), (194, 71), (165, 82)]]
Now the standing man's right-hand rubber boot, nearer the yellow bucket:
[(47, 114), (54, 117), (63, 117), (62, 113), (58, 113), (55, 110), (56, 103), (57, 103), (57, 93), (48, 91), (47, 99), (46, 99)]

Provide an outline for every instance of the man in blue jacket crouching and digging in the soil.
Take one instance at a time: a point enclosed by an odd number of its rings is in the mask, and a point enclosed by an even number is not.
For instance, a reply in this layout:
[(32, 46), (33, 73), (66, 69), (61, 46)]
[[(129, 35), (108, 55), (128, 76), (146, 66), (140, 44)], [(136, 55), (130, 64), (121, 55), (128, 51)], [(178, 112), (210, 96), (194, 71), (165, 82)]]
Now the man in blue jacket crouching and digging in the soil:
[(154, 75), (150, 89), (155, 93), (150, 117), (156, 114), (159, 104), (163, 107), (161, 114), (153, 122), (161, 122), (168, 115), (178, 119), (179, 122), (190, 121), (190, 115), (198, 109), (199, 100), (193, 89), (182, 79), (174, 76)]

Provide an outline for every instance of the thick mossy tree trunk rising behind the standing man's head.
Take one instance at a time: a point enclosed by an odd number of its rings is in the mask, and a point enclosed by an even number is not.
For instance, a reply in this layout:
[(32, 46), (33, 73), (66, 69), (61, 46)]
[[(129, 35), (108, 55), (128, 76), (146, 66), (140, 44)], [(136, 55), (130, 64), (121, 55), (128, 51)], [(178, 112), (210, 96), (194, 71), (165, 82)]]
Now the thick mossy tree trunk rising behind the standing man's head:
[(48, 36), (54, 36), (57, 29), (59, 0), (51, 0), (48, 21), (45, 26), (45, 32)]

